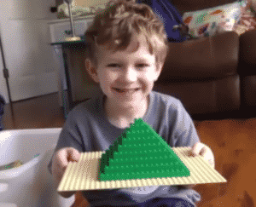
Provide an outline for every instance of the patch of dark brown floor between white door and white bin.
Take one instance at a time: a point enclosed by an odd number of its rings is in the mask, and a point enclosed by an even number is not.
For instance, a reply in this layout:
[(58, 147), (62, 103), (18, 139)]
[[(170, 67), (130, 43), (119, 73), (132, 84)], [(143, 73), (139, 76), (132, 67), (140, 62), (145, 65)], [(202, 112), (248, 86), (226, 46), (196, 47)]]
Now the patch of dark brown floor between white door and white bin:
[(58, 94), (43, 95), (4, 106), (4, 129), (42, 129), (62, 127), (65, 118)]

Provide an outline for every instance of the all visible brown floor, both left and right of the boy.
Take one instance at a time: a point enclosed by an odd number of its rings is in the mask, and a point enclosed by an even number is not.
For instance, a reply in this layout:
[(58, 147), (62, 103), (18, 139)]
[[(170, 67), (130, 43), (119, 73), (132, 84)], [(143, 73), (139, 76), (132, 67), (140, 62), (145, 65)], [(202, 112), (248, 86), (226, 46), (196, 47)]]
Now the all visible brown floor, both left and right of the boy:
[[(4, 129), (61, 128), (64, 123), (57, 93), (4, 106)], [(212, 148), (216, 170), (228, 180), (195, 187), (202, 197), (198, 207), (255, 206), (256, 118), (195, 121), (195, 128), (201, 141)], [(77, 198), (76, 207), (86, 206)]]

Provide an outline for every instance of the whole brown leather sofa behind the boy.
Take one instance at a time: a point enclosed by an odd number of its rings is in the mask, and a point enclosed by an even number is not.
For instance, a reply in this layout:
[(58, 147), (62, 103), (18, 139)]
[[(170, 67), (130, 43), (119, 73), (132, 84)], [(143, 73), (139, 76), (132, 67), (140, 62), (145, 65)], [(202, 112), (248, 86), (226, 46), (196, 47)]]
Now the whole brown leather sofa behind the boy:
[[(172, 0), (181, 14), (233, 2)], [(154, 90), (177, 97), (195, 120), (255, 117), (255, 37), (232, 31), (169, 43)]]

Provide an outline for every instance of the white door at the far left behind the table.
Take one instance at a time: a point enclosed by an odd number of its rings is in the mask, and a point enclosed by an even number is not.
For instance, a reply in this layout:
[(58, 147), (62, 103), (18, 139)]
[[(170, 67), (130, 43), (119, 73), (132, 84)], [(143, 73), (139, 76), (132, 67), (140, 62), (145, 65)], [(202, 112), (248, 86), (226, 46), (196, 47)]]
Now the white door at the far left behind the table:
[[(49, 11), (52, 6), (55, 0), (0, 1), (0, 34), (12, 101), (57, 91), (48, 21), (40, 20), (56, 19)], [(9, 102), (2, 56), (0, 71), (0, 93)]]

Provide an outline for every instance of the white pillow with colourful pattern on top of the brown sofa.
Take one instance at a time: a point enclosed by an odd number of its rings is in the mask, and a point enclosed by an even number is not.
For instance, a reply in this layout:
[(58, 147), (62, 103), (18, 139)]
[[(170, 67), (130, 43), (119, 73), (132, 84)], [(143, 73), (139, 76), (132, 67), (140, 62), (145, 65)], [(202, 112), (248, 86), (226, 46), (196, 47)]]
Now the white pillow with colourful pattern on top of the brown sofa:
[(247, 6), (247, 0), (239, 0), (211, 9), (186, 12), (183, 22), (189, 26), (189, 35), (192, 37), (208, 37), (218, 32), (234, 31)]

